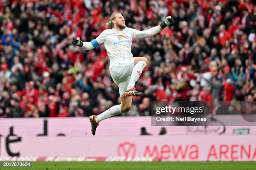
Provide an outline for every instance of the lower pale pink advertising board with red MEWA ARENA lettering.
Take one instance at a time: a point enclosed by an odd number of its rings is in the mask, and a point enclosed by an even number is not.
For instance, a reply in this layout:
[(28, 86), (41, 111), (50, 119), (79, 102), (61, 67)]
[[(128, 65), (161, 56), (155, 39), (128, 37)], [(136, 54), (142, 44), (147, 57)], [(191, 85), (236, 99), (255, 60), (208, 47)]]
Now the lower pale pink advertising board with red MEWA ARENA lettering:
[(44, 161), (56, 161), (56, 157), (105, 161), (136, 157), (161, 161), (256, 161), (256, 138), (253, 135), (1, 137), (0, 160), (10, 158), (10, 153), (16, 158)]

